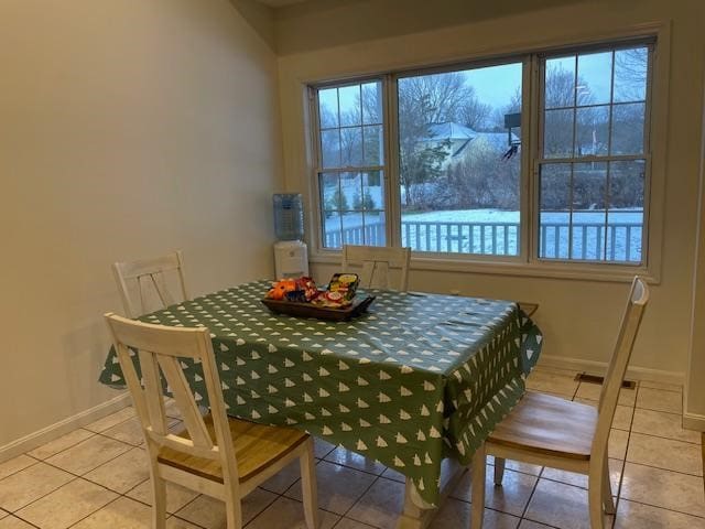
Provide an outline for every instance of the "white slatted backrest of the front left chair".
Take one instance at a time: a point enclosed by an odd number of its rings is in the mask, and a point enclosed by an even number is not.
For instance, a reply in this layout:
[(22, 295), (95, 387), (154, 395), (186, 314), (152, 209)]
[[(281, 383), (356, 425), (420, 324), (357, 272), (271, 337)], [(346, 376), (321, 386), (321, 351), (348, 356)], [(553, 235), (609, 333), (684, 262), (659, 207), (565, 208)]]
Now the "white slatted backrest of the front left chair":
[[(106, 321), (148, 444), (153, 445), (148, 449), (169, 446), (186, 455), (220, 460), (224, 476), (237, 479), (237, 462), (208, 330), (151, 325), (115, 314), (106, 314)], [(142, 380), (131, 354), (134, 349), (138, 350)], [(206, 428), (194, 392), (184, 376), (181, 366), (184, 358), (199, 361), (203, 367), (215, 440)], [(169, 432), (162, 396), (163, 381), (182, 413), (188, 438)]]

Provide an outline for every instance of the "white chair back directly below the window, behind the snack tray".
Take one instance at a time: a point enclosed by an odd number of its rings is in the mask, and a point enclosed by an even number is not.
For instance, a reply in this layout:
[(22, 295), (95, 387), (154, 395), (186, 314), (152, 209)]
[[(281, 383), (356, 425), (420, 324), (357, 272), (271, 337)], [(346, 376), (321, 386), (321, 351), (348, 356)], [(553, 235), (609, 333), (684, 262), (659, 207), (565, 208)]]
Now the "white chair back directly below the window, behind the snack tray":
[[(411, 261), (410, 248), (389, 248), (381, 246), (352, 246), (343, 247), (343, 271), (356, 272), (360, 277), (360, 287), (366, 289), (390, 289), (389, 270), (400, 268), (400, 292), (409, 290), (409, 263)], [(361, 267), (361, 270), (357, 268)]]

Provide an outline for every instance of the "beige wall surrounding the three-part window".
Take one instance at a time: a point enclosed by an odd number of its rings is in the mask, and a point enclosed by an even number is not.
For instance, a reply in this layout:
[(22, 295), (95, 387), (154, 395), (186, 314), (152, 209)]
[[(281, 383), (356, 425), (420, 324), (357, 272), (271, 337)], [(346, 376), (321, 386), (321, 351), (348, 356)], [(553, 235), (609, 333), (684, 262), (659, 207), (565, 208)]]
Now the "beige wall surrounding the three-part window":
[[(424, 19), (432, 2), (415, 0), (338, 1), (328, 9), (296, 11), (292, 7), (280, 14), (276, 34), (288, 187), (311, 192), (313, 177), (305, 156), (305, 82), (452, 62), (578, 36), (590, 39), (640, 24), (670, 25), (672, 42), (666, 58), (671, 76), (663, 140), (666, 152), (659, 160), (665, 165), (665, 192), (654, 197), (664, 212), (661, 282), (652, 288), (632, 365), (641, 368), (644, 377), (672, 376), (682, 381), (691, 330), (705, 2), (503, 1), (499, 3), (501, 9), (488, 7), (487, 12), (460, 3), (448, 2), (455, 6), (455, 22), (440, 15)], [(403, 13), (395, 18), (394, 9)], [(446, 28), (441, 28), (444, 24)], [(323, 35), (329, 35), (335, 45), (326, 45), (322, 33), (313, 31), (316, 26), (325, 28)], [(659, 53), (668, 50), (662, 46)], [(319, 260), (312, 268), (317, 279), (325, 280), (337, 266)], [(623, 282), (506, 277), (494, 274), (489, 267), (486, 273), (416, 267), (410, 274), (410, 288), (436, 292), (457, 289), (469, 295), (539, 302), (536, 320), (546, 338), (545, 357), (587, 363), (607, 360), (628, 293)]]

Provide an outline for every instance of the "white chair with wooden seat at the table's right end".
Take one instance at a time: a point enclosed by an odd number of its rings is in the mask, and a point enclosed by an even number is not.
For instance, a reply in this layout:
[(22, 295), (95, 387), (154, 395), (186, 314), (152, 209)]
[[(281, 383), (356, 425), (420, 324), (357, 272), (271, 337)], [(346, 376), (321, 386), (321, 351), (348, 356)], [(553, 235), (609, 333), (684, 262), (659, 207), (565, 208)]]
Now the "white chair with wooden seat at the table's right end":
[(495, 484), (501, 485), (505, 460), (550, 466), (588, 476), (590, 527), (603, 529), (604, 514), (615, 514), (607, 443), (631, 349), (649, 301), (639, 277), (631, 283), (617, 343), (597, 408), (550, 395), (527, 392), (473, 456), (471, 528), (481, 529), (486, 456), (495, 456)]

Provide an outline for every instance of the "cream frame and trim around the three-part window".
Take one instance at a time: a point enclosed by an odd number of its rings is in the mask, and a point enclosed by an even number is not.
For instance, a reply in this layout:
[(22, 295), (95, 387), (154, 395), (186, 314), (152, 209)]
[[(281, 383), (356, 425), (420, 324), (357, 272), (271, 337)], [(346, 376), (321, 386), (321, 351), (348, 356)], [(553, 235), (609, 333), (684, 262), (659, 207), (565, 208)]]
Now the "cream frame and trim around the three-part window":
[[(535, 174), (536, 163), (534, 150), (538, 142), (538, 120), (540, 117), (539, 107), (542, 104), (539, 93), (539, 68), (538, 57), (541, 54), (567, 54), (570, 52), (585, 53), (590, 48), (621, 48), (648, 43), (652, 46), (649, 55), (649, 78), (647, 84), (647, 121), (644, 121), (644, 134), (649, 134), (651, 151), (644, 158), (647, 160), (647, 177), (644, 182), (644, 222), (642, 237), (642, 262), (625, 263), (622, 261), (587, 261), (556, 259), (539, 259), (539, 224), (538, 224), (538, 175)], [(547, 43), (529, 43), (527, 45), (512, 45), (499, 52), (478, 52), (463, 57), (449, 58), (446, 62), (431, 64), (420, 64), (414, 67), (399, 67), (392, 64), (390, 68), (377, 75), (365, 73), (359, 76), (346, 76), (322, 82), (319, 78), (302, 79), (304, 88), (308, 90), (318, 89), (325, 86), (339, 85), (346, 80), (349, 83), (360, 83), (365, 79), (383, 79), (383, 106), (384, 106), (384, 147), (386, 155), (386, 208), (388, 246), (399, 246), (401, 238), (401, 207), (399, 197), (399, 152), (398, 152), (398, 130), (397, 130), (397, 84), (395, 79), (409, 76), (413, 73), (452, 72), (470, 67), (481, 67), (492, 64), (503, 64), (510, 62), (529, 63), (524, 64), (522, 88), (522, 148), (531, 152), (530, 155), (522, 155), (522, 174), (520, 192), (520, 218), (521, 218), (521, 250), (519, 256), (496, 256), (496, 255), (470, 255), (470, 253), (431, 253), (414, 252), (412, 255), (412, 268), (429, 271), (457, 271), (457, 272), (480, 272), (489, 274), (508, 274), (536, 278), (565, 278), (596, 281), (626, 281), (630, 280), (634, 273), (640, 273), (650, 282), (660, 281), (661, 269), (661, 247), (663, 234), (663, 198), (665, 179), (665, 138), (668, 123), (668, 91), (669, 91), (669, 53), (670, 53), (670, 24), (653, 23), (640, 26), (607, 31), (599, 36), (584, 35), (582, 39), (563, 42), (558, 39)], [(317, 109), (314, 112), (312, 101), (315, 98), (307, 98), (308, 110), (304, 119), (307, 127), (310, 145), (317, 145), (319, 136), (317, 132), (318, 119)], [(527, 104), (527, 101), (529, 104)], [(524, 125), (527, 123), (527, 125)], [(392, 148), (393, 147), (393, 148)], [(317, 147), (316, 147), (317, 149)], [(321, 263), (334, 263), (339, 260), (340, 250), (336, 248), (324, 248), (322, 244), (321, 207), (318, 204), (318, 179), (317, 179), (317, 153), (310, 148), (308, 168), (313, 168), (313, 181), (308, 179), (311, 190), (310, 201), (315, 209), (312, 219), (315, 219), (315, 237), (308, 237), (312, 244), (312, 261)], [(313, 186), (312, 186), (313, 182)], [(311, 224), (310, 224), (311, 226)], [(507, 259), (509, 257), (509, 260)], [(490, 264), (492, 264), (490, 267)]]

